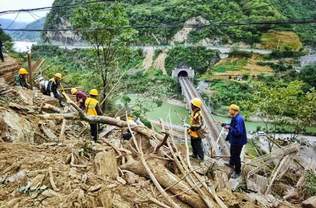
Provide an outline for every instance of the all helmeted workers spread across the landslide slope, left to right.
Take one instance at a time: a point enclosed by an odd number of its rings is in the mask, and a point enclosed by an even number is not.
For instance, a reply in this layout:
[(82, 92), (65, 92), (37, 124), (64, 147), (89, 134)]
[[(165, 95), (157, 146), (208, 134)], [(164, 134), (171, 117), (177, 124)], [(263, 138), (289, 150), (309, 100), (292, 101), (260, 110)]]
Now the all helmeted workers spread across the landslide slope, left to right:
[[(18, 74), (15, 75), (15, 83), (17, 86), (28, 88), (28, 83), (26, 82), (26, 75), (28, 74), (26, 69), (20, 69)], [(44, 78), (40, 77), (40, 91), (43, 95), (50, 96), (52, 92), (54, 97), (59, 100), (62, 105), (60, 96), (57, 92), (57, 88), (60, 86), (60, 79), (62, 78), (61, 73), (56, 73), (53, 78), (49, 81), (45, 81)], [(98, 91), (92, 89), (89, 95), (84, 92), (79, 91), (77, 88), (71, 89), (71, 94), (76, 95), (76, 104), (79, 104), (80, 109), (85, 113), (93, 116), (103, 115), (100, 104), (96, 97), (98, 96)], [(202, 139), (206, 137), (206, 127), (203, 122), (201, 114), (202, 101), (199, 98), (194, 98), (191, 100), (192, 113), (190, 116), (190, 124), (183, 124), (184, 127), (188, 128), (188, 133), (191, 137), (192, 154), (191, 157), (199, 158), (200, 165), (204, 164), (204, 152), (202, 146)], [(222, 126), (227, 129), (228, 135), (225, 140), (229, 141), (230, 146), (230, 160), (226, 162), (225, 165), (235, 168), (235, 172), (231, 176), (232, 178), (237, 178), (241, 174), (241, 161), (240, 153), (243, 145), (247, 143), (247, 135), (243, 117), (239, 114), (239, 106), (236, 104), (231, 104), (229, 107), (229, 114), (232, 116), (231, 123), (226, 124), (220, 121), (217, 125)], [(132, 122), (132, 118), (128, 117), (128, 122)], [(99, 124), (90, 123), (91, 136), (94, 141), (98, 140), (99, 135)], [(123, 135), (123, 139), (130, 139), (132, 137), (131, 132), (127, 132)]]

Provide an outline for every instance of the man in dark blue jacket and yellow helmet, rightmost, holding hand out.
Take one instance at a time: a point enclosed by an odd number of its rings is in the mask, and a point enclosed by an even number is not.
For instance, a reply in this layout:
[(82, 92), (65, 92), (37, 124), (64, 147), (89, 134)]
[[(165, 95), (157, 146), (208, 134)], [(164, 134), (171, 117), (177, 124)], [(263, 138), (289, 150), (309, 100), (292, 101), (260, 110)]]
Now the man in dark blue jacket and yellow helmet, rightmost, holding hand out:
[(243, 117), (239, 114), (239, 106), (231, 104), (228, 108), (228, 112), (232, 116), (231, 123), (226, 124), (218, 121), (217, 125), (229, 130), (225, 140), (231, 144), (231, 157), (229, 162), (226, 162), (225, 165), (231, 168), (235, 167), (235, 173), (233, 173), (231, 177), (237, 178), (241, 174), (240, 153), (242, 146), (247, 143), (247, 133)]

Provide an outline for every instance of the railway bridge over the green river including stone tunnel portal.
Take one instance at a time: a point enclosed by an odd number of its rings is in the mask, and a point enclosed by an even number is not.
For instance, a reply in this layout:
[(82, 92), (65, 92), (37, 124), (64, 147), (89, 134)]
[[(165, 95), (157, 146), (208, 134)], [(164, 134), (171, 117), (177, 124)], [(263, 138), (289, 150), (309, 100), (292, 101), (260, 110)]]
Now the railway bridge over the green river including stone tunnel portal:
[[(210, 110), (205, 105), (203, 99), (201, 98), (197, 89), (193, 85), (191, 79), (194, 78), (194, 75), (193, 77), (189, 76), (190, 73), (192, 75), (192, 72), (190, 70), (193, 71), (192, 68), (189, 68), (184, 63), (181, 63), (178, 68), (172, 71), (172, 75), (174, 75), (174, 77), (178, 77), (180, 86), (182, 88), (182, 94), (184, 95), (184, 99), (189, 106), (190, 106), (190, 101), (195, 97), (202, 100), (201, 113), (202, 113), (203, 121), (206, 125), (206, 128), (208, 129), (208, 136), (205, 139), (202, 139), (202, 143), (203, 143), (204, 152), (206, 154), (209, 154), (211, 147), (214, 147), (216, 140), (220, 136), (220, 129), (216, 125), (216, 121), (213, 115), (211, 114)], [(193, 71), (193, 74), (194, 74), (194, 71)], [(214, 152), (217, 155), (230, 155), (230, 150), (229, 150), (230, 148), (229, 148), (228, 142), (225, 141), (225, 138), (223, 135), (221, 135), (220, 139), (218, 140), (218, 145), (215, 148), (216, 149), (214, 149), (215, 150)]]

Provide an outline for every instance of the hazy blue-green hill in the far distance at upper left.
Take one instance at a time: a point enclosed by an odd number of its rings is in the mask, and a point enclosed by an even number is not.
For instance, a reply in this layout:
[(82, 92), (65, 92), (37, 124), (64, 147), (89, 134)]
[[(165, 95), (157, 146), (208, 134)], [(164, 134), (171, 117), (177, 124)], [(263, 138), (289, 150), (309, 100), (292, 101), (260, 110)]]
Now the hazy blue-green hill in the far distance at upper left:
[[(27, 30), (37, 30), (42, 29), (43, 24), (45, 23), (45, 17), (36, 20), (30, 24), (27, 24), (23, 29)], [(13, 40), (23, 40), (23, 41), (32, 41), (37, 42), (40, 40), (40, 32), (23, 32), (23, 31), (14, 31), (11, 34)]]

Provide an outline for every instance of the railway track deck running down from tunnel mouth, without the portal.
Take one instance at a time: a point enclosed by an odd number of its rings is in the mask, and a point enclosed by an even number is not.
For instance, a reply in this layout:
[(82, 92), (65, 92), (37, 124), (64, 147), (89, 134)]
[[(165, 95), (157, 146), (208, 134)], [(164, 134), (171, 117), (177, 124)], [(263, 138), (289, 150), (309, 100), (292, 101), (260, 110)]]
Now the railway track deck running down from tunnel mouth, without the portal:
[[(215, 123), (215, 119), (213, 115), (210, 113), (207, 106), (204, 104), (203, 99), (201, 98), (200, 94), (197, 92), (196, 88), (194, 87), (192, 81), (188, 77), (179, 77), (179, 83), (183, 90), (184, 97), (188, 104), (193, 98), (199, 98), (202, 100), (201, 106), (201, 113), (203, 117), (203, 121), (208, 128), (208, 137), (206, 138), (207, 146), (213, 147), (216, 139), (219, 137), (220, 129)], [(220, 149), (216, 149), (215, 152), (218, 155), (230, 155), (230, 148), (228, 143), (225, 141), (225, 138), (222, 136), (218, 141)]]

